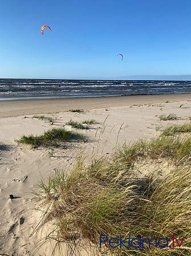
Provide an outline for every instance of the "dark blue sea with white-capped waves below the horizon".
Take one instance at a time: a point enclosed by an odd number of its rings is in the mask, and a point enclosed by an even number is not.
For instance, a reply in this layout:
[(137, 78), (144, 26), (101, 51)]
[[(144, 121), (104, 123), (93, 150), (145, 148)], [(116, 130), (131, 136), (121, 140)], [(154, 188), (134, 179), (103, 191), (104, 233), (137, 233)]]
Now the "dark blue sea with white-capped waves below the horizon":
[(0, 100), (191, 93), (191, 81), (0, 79)]

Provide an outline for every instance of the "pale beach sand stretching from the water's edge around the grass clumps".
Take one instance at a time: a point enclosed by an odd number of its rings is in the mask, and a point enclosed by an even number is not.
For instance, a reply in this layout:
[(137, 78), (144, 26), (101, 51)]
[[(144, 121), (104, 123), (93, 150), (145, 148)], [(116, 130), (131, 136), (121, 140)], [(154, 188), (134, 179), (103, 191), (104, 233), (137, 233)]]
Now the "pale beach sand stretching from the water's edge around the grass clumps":
[[(40, 235), (30, 237), (39, 222), (40, 213), (32, 211), (32, 190), (38, 190), (40, 180), (54, 174), (55, 170), (70, 171), (80, 148), (92, 148), (103, 128), (99, 153), (111, 153), (117, 134), (123, 124), (118, 143), (135, 141), (140, 137), (156, 135), (156, 127), (173, 123), (185, 123), (191, 116), (191, 94), (163, 94), (149, 96), (108, 97), (94, 99), (52, 99), (0, 101), (0, 141), (8, 147), (0, 150), (0, 255), (47, 255), (52, 247), (47, 244), (35, 254), (36, 241)], [(169, 103), (166, 103), (169, 101)], [(139, 105), (138, 105), (139, 104)], [(145, 104), (145, 105), (144, 105)], [(180, 105), (182, 107), (180, 108)], [(66, 112), (69, 109), (84, 109), (83, 113)], [(107, 109), (107, 110), (105, 110)], [(52, 117), (54, 125), (47, 120), (32, 118), (33, 114)], [(174, 113), (177, 120), (160, 121), (157, 115)], [(31, 115), (32, 114), (32, 115)], [(51, 149), (31, 149), (17, 145), (14, 139), (23, 134), (41, 134), (51, 128), (62, 127), (70, 119), (84, 121), (95, 119), (96, 124), (87, 131), (80, 131), (88, 137), (86, 143), (67, 144), (66, 148), (55, 149), (55, 156), (49, 157)], [(95, 138), (96, 129), (98, 129)], [(13, 194), (14, 199), (9, 199)], [(44, 253), (44, 254), (43, 254)]]

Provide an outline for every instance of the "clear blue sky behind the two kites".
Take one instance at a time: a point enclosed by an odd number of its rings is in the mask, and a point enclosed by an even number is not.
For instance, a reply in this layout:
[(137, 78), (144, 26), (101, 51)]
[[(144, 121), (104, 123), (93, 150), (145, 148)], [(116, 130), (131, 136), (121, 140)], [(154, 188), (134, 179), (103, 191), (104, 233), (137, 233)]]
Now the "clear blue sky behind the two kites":
[(190, 0), (0, 3), (1, 78), (191, 74)]

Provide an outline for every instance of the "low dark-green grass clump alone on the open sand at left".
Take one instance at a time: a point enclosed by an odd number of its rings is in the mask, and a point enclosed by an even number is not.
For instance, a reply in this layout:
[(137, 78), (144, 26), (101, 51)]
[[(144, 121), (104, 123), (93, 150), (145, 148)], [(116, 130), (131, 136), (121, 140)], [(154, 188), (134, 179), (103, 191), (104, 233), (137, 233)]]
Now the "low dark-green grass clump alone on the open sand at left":
[(70, 141), (71, 139), (84, 140), (82, 135), (74, 134), (68, 132), (63, 128), (53, 128), (47, 132), (44, 132), (43, 135), (23, 135), (21, 139), (15, 140), (17, 143), (31, 145), (34, 148), (38, 148), (40, 145), (48, 147), (54, 146), (58, 147), (63, 141)]

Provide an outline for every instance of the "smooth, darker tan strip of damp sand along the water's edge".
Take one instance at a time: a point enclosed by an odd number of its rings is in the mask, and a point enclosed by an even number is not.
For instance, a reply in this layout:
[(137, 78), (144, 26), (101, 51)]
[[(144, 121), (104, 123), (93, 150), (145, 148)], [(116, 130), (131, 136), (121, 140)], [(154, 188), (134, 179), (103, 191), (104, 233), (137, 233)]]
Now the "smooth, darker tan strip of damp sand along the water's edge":
[(110, 97), (1, 100), (0, 117), (66, 112), (70, 109), (96, 109), (131, 105), (191, 101), (191, 93), (139, 94)]

